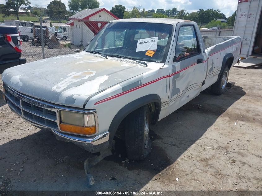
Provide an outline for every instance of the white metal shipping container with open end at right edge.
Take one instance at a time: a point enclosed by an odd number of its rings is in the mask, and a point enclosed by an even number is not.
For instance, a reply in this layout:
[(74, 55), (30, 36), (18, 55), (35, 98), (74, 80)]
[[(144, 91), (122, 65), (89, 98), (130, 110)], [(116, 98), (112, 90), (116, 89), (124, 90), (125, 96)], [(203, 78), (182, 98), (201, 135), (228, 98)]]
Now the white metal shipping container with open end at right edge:
[(242, 38), (240, 56), (262, 58), (262, 0), (239, 0), (233, 36)]

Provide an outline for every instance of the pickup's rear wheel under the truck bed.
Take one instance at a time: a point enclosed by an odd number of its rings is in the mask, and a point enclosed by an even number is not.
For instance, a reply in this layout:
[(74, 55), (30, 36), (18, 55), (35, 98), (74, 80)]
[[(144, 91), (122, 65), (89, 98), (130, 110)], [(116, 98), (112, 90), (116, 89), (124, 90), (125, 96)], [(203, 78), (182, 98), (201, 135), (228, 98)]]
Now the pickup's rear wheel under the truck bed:
[(229, 69), (226, 66), (222, 74), (220, 75), (219, 80), (216, 83), (214, 83), (213, 85), (211, 85), (212, 93), (217, 94), (217, 95), (221, 95), (224, 93), (227, 82), (228, 82), (228, 75), (229, 75)]

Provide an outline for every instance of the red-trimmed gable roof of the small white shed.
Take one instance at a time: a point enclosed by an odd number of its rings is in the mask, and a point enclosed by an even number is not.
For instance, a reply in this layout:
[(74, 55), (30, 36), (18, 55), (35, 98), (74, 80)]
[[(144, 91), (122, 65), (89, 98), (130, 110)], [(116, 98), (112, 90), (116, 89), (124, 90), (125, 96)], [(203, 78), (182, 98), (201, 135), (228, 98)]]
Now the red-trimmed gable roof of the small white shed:
[(94, 9), (87, 9), (79, 11), (78, 13), (72, 15), (69, 17), (70, 20), (88, 20), (91, 16), (101, 12), (105, 11), (115, 19), (118, 19), (117, 16), (113, 15), (110, 11), (106, 10), (105, 8), (94, 8)]

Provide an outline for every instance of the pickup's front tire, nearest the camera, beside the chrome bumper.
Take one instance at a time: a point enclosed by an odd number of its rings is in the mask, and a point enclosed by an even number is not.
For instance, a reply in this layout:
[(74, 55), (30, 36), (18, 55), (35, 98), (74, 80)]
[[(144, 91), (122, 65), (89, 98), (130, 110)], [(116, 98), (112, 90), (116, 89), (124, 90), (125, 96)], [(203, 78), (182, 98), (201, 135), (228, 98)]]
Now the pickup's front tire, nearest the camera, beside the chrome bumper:
[(151, 113), (148, 105), (138, 108), (126, 119), (125, 141), (127, 157), (143, 160), (149, 155), (152, 142), (149, 137)]

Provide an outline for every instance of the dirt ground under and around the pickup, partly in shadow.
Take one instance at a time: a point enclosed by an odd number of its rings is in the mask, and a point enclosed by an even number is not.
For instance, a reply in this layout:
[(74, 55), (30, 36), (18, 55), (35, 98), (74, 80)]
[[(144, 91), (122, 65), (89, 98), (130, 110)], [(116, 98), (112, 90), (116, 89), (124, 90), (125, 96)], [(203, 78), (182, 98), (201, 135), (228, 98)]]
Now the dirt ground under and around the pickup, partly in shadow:
[(159, 121), (144, 161), (123, 163), (126, 153), (117, 141), (116, 154), (93, 168), (91, 188), (83, 162), (93, 155), (12, 113), (1, 83), (0, 194), (10, 189), (261, 191), (261, 75), (261, 67), (232, 68), (233, 88), (221, 96), (205, 90)]

